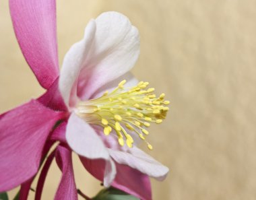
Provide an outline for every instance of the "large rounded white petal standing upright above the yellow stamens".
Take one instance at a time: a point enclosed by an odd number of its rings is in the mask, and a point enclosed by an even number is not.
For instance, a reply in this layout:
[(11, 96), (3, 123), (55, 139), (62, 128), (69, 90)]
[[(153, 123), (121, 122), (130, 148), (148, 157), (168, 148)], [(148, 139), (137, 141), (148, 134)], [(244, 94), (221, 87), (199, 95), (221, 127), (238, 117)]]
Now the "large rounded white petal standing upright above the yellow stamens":
[(98, 88), (129, 71), (139, 56), (139, 33), (125, 15), (102, 13), (96, 34), (79, 77), (79, 96), (90, 98)]

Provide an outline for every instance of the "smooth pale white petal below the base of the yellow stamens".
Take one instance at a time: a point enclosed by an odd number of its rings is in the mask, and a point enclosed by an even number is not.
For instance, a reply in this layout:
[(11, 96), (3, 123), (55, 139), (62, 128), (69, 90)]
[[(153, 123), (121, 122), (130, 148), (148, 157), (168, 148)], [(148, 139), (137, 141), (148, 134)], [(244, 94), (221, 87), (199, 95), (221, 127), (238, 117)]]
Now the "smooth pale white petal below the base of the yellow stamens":
[(66, 130), (67, 143), (74, 152), (90, 159), (109, 160), (108, 149), (88, 123), (74, 112), (69, 117)]

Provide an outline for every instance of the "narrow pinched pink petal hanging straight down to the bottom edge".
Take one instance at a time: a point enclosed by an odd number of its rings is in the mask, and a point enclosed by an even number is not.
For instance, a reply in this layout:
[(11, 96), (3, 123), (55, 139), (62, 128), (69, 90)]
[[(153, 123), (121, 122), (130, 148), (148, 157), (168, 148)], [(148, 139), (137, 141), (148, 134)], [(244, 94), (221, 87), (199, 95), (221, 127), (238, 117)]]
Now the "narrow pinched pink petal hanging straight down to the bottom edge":
[(62, 176), (57, 193), (55, 194), (55, 200), (76, 200), (77, 191), (73, 175), (71, 151), (59, 145), (56, 151), (56, 162), (61, 169)]

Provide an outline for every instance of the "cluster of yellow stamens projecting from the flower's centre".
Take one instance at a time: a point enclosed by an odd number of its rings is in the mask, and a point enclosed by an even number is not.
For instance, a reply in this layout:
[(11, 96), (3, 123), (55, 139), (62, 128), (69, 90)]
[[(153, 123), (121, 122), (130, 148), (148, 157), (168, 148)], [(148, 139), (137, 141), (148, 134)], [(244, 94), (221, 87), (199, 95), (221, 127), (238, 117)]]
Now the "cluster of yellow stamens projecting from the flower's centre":
[(125, 83), (121, 81), (113, 92), (106, 91), (100, 98), (79, 102), (76, 114), (87, 123), (101, 126), (105, 135), (115, 132), (121, 146), (125, 142), (133, 146), (133, 132), (153, 149), (145, 138), (147, 128), (150, 123), (162, 123), (170, 102), (164, 100), (165, 94), (156, 97), (154, 88), (146, 89), (148, 82), (140, 81), (131, 88), (124, 88)]

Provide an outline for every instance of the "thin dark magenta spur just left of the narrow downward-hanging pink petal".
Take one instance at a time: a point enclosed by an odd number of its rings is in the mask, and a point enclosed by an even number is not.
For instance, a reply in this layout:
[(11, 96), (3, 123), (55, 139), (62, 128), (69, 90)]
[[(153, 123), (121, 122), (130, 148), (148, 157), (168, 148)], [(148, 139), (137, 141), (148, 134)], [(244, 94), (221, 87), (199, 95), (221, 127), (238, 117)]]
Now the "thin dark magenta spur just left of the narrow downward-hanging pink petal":
[(51, 163), (53, 162), (53, 158), (55, 157), (55, 150), (51, 152), (51, 154), (48, 156), (46, 162), (44, 163), (44, 166), (42, 168), (42, 171), (40, 173), (40, 176), (38, 178), (38, 182), (36, 185), (36, 195), (35, 200), (40, 200), (42, 195), (42, 188), (44, 187), (44, 181), (46, 178), (46, 175), (49, 171), (49, 168), (51, 166)]

